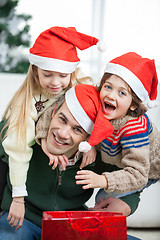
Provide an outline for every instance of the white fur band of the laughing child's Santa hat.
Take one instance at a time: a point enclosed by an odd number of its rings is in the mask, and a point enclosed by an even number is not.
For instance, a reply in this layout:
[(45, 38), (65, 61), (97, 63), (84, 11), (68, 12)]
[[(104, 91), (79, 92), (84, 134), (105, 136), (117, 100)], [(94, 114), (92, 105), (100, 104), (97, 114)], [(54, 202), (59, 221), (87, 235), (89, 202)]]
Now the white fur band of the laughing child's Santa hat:
[(104, 72), (121, 77), (142, 100), (142, 102), (149, 101), (148, 92), (143, 86), (141, 80), (128, 68), (125, 68), (120, 64), (108, 63)]

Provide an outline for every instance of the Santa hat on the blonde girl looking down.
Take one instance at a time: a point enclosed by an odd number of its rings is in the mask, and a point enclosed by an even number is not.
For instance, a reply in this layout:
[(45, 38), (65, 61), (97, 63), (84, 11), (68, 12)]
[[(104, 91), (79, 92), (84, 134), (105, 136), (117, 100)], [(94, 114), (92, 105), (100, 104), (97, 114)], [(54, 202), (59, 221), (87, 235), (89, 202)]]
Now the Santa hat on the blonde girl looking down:
[(97, 38), (77, 32), (74, 27), (51, 27), (30, 48), (29, 61), (44, 70), (72, 73), (80, 62), (76, 47), (84, 50), (96, 44), (100, 51), (104, 50)]

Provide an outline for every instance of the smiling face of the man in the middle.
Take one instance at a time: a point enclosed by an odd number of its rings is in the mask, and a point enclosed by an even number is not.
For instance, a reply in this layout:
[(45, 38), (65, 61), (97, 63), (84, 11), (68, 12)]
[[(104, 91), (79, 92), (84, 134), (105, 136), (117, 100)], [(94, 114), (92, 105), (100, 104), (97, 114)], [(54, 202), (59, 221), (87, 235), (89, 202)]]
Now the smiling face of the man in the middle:
[(81, 141), (88, 137), (83, 128), (69, 111), (66, 102), (52, 118), (47, 137), (47, 148), (52, 154), (65, 154), (72, 149), (78, 149)]

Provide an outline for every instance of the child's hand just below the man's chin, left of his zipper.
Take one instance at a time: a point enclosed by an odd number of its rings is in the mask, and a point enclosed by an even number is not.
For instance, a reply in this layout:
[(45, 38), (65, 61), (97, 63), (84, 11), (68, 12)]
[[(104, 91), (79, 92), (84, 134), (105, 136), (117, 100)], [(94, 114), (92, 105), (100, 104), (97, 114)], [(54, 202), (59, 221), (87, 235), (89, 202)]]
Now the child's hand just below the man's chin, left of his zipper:
[(69, 163), (68, 158), (65, 155), (51, 155), (50, 154), (50, 161), (49, 165), (52, 166), (52, 169), (54, 170), (58, 164), (62, 165), (62, 170), (66, 170), (66, 165)]

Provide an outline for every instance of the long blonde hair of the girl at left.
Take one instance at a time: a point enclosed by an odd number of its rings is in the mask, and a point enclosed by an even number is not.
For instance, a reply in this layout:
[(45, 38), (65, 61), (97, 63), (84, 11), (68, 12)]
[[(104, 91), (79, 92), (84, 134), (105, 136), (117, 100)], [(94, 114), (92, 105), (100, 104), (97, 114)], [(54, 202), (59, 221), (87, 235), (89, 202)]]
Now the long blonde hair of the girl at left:
[[(79, 83), (93, 84), (92, 79), (84, 76), (80, 69), (77, 68), (75, 72), (71, 74), (70, 83), (67, 89)], [(30, 64), (25, 81), (12, 97), (4, 112), (2, 120), (6, 121), (6, 123), (1, 130), (1, 134), (4, 130), (7, 129), (7, 131), (3, 139), (7, 136), (9, 131), (16, 131), (18, 144), (21, 146), (25, 143), (26, 145), (26, 129), (28, 117), (31, 113), (32, 98), (34, 94), (41, 93), (42, 87), (39, 83), (37, 67)]]

